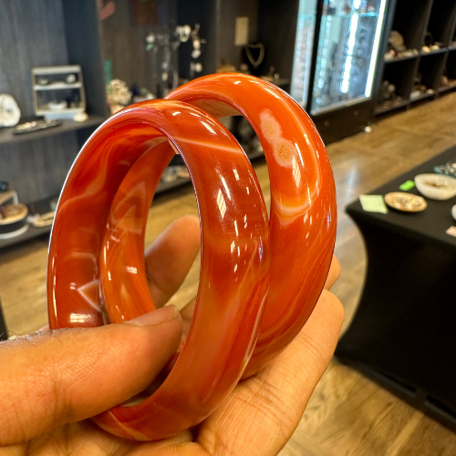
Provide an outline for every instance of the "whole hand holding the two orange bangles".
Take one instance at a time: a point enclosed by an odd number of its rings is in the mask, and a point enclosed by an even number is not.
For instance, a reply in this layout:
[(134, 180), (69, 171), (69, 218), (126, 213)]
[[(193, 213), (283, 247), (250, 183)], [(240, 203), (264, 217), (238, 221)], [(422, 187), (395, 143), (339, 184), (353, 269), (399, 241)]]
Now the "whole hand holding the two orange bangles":
[[(146, 251), (157, 306), (168, 303), (179, 288), (199, 248), (198, 219), (186, 216), (171, 223)], [(87, 419), (150, 385), (179, 346), (192, 304), (181, 316), (160, 310), (164, 320), (158, 324), (147, 324), (145, 317), (142, 326), (45, 330), (3, 342), (0, 455), (277, 454), (336, 347), (344, 312), (328, 290), (339, 274), (334, 258), (312, 316), (272, 364), (239, 383), (197, 428), (158, 442), (120, 439)]]

